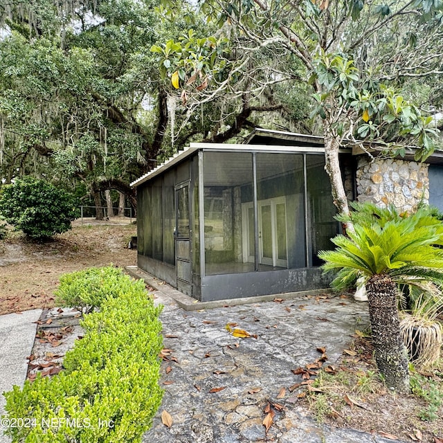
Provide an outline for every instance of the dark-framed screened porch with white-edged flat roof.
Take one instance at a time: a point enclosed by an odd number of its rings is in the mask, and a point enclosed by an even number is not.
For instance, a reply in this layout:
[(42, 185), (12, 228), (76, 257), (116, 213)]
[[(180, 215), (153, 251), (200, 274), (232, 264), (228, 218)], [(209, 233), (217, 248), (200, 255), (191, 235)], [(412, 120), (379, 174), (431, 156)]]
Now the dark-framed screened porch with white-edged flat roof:
[(191, 143), (134, 181), (138, 267), (197, 300), (328, 287), (334, 220), (323, 140)]

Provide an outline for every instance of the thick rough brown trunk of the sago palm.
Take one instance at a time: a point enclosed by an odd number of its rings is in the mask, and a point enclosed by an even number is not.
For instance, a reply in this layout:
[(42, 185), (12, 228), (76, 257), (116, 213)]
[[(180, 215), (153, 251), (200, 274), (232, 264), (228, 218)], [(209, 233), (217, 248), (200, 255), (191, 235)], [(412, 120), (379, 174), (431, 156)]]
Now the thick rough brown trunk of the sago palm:
[(390, 388), (407, 393), (408, 354), (401, 339), (397, 286), (388, 275), (373, 275), (366, 289), (377, 366)]

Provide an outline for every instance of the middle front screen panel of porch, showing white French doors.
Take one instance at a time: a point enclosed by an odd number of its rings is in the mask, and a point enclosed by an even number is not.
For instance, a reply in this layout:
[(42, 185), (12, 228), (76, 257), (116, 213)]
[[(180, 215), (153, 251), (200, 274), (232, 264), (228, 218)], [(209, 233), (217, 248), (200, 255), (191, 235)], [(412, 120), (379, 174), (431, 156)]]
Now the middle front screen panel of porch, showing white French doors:
[(259, 270), (306, 266), (302, 154), (256, 154)]

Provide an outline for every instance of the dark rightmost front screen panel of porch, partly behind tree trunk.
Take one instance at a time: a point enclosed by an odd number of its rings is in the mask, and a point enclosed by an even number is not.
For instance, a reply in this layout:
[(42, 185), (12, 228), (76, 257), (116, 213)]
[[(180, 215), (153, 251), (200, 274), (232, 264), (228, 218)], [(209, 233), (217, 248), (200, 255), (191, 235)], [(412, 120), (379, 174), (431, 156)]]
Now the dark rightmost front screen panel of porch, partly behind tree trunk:
[(325, 171), (323, 155), (307, 155), (307, 203), (309, 219), (309, 243), (311, 265), (320, 266), (317, 257), (320, 250), (334, 249), (331, 238), (338, 233), (338, 221), (334, 220), (336, 207), (332, 203), (332, 190)]

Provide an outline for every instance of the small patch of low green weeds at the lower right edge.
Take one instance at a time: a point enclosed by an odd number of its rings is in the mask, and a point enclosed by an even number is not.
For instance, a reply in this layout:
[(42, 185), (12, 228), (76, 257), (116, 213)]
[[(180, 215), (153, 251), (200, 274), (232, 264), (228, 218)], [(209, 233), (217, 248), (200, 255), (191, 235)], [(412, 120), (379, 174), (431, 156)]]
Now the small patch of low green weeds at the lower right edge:
[(425, 422), (439, 418), (439, 408), (443, 404), (443, 392), (437, 381), (414, 372), (410, 377), (410, 388), (414, 395), (424, 399), (427, 407), (420, 411), (419, 417)]

